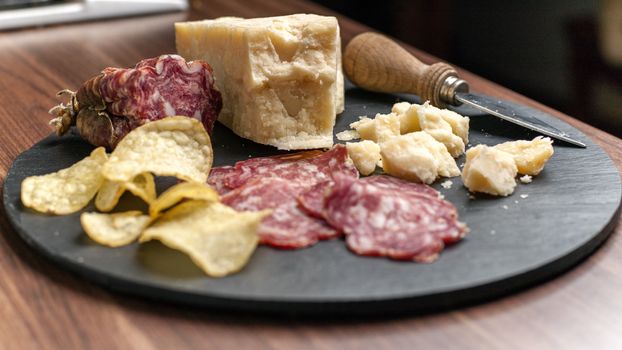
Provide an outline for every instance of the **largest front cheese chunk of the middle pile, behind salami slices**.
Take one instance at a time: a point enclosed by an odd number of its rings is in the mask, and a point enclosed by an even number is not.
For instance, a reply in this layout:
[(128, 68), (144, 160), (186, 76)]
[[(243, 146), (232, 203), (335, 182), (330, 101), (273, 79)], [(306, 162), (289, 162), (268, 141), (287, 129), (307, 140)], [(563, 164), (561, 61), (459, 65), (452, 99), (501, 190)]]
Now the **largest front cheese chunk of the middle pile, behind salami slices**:
[(387, 174), (409, 181), (429, 184), (439, 176), (460, 175), (445, 145), (422, 131), (396, 136), (380, 144), (380, 155)]

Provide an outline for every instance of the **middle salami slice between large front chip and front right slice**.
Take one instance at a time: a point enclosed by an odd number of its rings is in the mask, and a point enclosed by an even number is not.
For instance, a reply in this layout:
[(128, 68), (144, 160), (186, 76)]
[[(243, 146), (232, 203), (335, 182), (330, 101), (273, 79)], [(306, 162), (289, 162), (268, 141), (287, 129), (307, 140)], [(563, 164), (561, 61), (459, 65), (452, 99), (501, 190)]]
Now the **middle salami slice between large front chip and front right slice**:
[(304, 186), (294, 182), (264, 177), (227, 193), (222, 202), (236, 210), (272, 209), (272, 215), (262, 220), (258, 229), (263, 244), (296, 249), (339, 236), (339, 231), (323, 220), (312, 218), (298, 208), (296, 197), (304, 190)]

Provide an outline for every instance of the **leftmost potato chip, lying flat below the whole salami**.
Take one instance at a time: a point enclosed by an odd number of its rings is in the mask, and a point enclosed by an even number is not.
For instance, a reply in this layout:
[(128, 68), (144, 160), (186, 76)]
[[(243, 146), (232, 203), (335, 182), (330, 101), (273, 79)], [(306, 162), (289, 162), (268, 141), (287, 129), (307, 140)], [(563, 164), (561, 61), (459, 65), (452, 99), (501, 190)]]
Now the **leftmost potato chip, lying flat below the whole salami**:
[(22, 182), (22, 203), (42, 213), (71, 214), (84, 208), (101, 187), (102, 167), (108, 156), (103, 147), (69, 168), (30, 176)]

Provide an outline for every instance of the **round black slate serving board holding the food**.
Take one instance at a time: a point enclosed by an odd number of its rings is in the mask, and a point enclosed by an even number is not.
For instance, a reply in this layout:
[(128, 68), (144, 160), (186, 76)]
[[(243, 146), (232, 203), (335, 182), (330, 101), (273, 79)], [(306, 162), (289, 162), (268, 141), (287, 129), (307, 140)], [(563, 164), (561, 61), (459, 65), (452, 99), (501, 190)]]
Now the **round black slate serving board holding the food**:
[[(398, 99), (354, 89), (335, 132), (359, 115), (388, 113)], [(413, 97), (410, 97), (411, 102)], [(531, 139), (533, 134), (491, 116), (471, 116), (471, 144)], [(396, 262), (350, 253), (343, 240), (283, 251), (259, 247), (238, 274), (206, 277), (185, 255), (160, 243), (116, 249), (99, 246), (82, 232), (80, 213), (47, 216), (24, 208), (20, 183), (26, 176), (67, 167), (92, 147), (76, 136), (49, 136), (22, 153), (5, 181), (4, 206), (18, 234), (61, 266), (105, 287), (155, 299), (238, 310), (353, 314), (442, 309), (500, 296), (550, 278), (573, 266), (611, 233), (618, 215), (621, 182), (609, 157), (585, 135), (539, 116), (576, 136), (586, 149), (556, 143), (555, 155), (531, 184), (507, 198), (469, 197), (460, 178), (434, 187), (454, 203), (467, 223), (466, 238), (431, 264)], [(217, 125), (214, 166), (277, 153)], [(464, 158), (458, 159), (462, 164)], [(159, 181), (160, 190), (167, 185)], [(125, 195), (117, 211), (145, 209)], [(86, 211), (93, 211), (89, 205)]]

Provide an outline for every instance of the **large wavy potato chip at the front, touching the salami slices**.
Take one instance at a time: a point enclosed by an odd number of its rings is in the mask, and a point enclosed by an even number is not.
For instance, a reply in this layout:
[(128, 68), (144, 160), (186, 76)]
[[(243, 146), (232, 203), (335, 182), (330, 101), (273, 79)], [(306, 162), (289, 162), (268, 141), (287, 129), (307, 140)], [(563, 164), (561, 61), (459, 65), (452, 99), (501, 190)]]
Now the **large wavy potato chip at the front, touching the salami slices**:
[(246, 265), (269, 210), (237, 212), (224, 204), (188, 201), (164, 213), (140, 236), (186, 253), (205, 273), (223, 277)]

